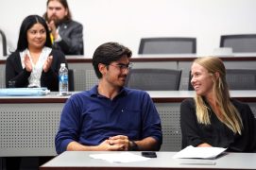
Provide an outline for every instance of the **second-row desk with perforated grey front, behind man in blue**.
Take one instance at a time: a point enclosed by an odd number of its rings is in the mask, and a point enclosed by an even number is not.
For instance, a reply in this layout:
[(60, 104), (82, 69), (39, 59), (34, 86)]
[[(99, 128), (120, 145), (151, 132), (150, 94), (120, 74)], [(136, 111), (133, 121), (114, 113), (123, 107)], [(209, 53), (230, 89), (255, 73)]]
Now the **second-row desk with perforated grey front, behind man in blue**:
[[(151, 91), (162, 119), (162, 151), (179, 151), (179, 106), (193, 91)], [(256, 91), (231, 91), (247, 102), (256, 115)], [(55, 135), (60, 113), (69, 96), (0, 96), (0, 157), (55, 156)]]

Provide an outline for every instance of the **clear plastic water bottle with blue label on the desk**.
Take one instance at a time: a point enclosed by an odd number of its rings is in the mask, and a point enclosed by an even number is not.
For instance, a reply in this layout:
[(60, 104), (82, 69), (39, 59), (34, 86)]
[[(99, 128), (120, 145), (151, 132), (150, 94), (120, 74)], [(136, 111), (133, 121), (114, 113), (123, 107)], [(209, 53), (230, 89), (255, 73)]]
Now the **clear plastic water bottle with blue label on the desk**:
[(59, 91), (60, 95), (68, 94), (68, 69), (65, 63), (60, 64)]

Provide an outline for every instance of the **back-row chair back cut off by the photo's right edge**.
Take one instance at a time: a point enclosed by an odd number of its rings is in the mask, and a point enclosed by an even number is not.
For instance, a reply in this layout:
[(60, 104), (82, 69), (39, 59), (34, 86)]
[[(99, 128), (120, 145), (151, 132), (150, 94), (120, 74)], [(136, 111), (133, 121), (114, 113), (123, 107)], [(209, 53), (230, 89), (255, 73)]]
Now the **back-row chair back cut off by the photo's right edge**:
[(223, 35), (220, 47), (230, 47), (233, 53), (256, 52), (256, 34)]

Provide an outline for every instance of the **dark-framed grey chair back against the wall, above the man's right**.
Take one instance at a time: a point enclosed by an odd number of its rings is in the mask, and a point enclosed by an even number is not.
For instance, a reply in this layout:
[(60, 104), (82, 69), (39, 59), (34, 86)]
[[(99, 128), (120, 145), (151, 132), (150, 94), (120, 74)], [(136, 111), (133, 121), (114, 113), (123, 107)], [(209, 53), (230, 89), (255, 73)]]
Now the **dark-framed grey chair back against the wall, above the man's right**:
[(139, 54), (195, 54), (196, 38), (141, 39)]

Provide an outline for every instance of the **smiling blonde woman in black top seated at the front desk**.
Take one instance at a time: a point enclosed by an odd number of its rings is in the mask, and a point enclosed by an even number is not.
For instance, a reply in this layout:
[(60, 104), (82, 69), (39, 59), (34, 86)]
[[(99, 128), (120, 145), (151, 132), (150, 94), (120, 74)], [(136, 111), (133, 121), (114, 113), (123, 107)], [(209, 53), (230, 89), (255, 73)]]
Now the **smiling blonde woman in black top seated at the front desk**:
[(195, 59), (191, 84), (196, 96), (180, 105), (182, 148), (216, 146), (233, 152), (256, 152), (255, 118), (246, 103), (230, 98), (221, 59)]

